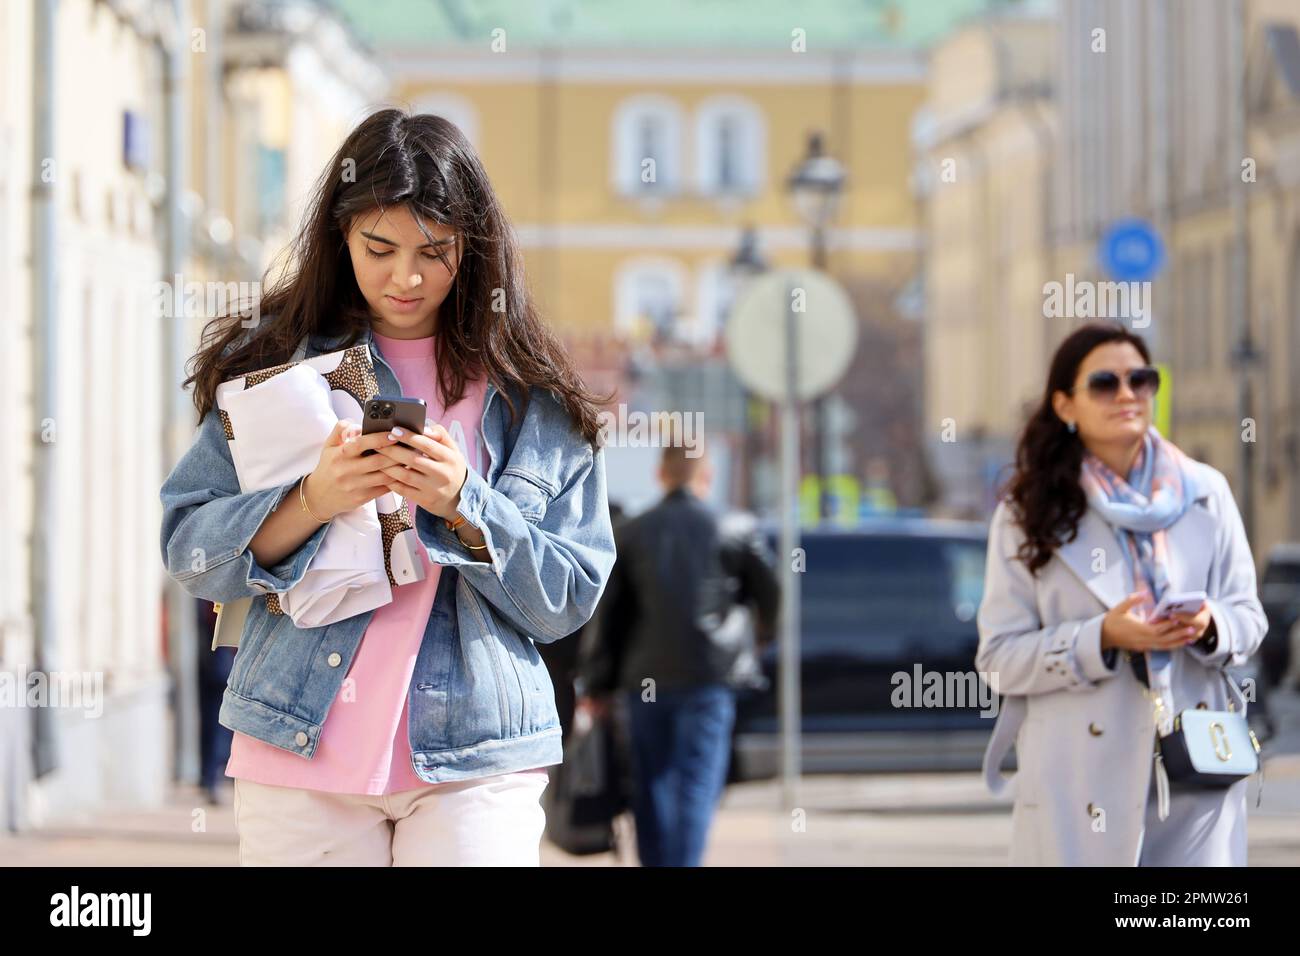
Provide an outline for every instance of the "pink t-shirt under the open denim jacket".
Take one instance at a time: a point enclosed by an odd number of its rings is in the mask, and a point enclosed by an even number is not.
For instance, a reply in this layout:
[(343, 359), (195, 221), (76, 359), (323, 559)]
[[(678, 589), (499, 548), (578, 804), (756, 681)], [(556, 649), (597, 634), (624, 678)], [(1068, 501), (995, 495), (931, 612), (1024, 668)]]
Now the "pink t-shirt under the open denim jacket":
[[(428, 416), (451, 432), (471, 468), (485, 475), (488, 450), (480, 446), (486, 381), (467, 382), (465, 395), (442, 407), (437, 388), (434, 338), (390, 338), (374, 333), (403, 395), (422, 398)], [(412, 514), (412, 518), (415, 515)], [(430, 784), (411, 766), (407, 692), (425, 624), (438, 592), (441, 564), (420, 549), (425, 578), (393, 589), (393, 601), (370, 619), (352, 667), (321, 727), (311, 760), (235, 732), (226, 775), (255, 783), (334, 793), (394, 793)], [(545, 774), (545, 767), (536, 773)]]

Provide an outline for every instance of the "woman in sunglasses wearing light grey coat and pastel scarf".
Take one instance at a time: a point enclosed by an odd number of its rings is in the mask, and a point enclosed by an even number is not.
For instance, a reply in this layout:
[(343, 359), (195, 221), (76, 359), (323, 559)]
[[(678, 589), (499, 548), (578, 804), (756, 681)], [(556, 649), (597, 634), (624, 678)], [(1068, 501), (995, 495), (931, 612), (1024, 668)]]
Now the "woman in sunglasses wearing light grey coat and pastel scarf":
[(1156, 700), (1227, 710), (1222, 669), (1266, 630), (1227, 481), (1152, 427), (1158, 389), (1139, 336), (1075, 330), (993, 512), (976, 667), (1004, 695), (984, 774), (1015, 784), (1014, 864), (1245, 864), (1248, 778), (1169, 790), (1154, 758)]

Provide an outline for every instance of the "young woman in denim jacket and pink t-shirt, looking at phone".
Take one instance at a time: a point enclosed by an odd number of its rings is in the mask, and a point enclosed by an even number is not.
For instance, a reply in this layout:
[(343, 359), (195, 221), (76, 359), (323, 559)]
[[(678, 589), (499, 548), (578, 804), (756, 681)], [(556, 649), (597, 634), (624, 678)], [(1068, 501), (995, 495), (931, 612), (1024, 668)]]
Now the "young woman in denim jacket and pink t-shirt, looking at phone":
[[(240, 862), (537, 865), (562, 749), (536, 645), (590, 618), (614, 564), (599, 398), (538, 316), (460, 130), (365, 118), (260, 311), (255, 328), (205, 329), (186, 381), (199, 433), (161, 493), (172, 576), (209, 601), (257, 598), (220, 718)], [(242, 493), (217, 385), (359, 342), (381, 393), (425, 399), (424, 433), (339, 421), (313, 471)], [(337, 515), (390, 492), (424, 580), (296, 627), (266, 598), (303, 579)]]

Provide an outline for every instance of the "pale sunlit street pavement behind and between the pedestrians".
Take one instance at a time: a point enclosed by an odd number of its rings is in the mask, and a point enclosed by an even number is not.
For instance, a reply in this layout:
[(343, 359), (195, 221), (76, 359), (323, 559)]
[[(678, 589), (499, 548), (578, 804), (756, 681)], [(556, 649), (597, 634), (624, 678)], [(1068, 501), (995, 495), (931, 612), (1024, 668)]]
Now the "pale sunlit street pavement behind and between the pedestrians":
[[(1249, 840), (1254, 866), (1300, 864), (1300, 754), (1266, 763), (1265, 801)], [(5, 866), (234, 866), (238, 838), (230, 805), (209, 806), (181, 787), (164, 806), (105, 809), (34, 832), (0, 836)], [(776, 782), (728, 788), (705, 856), (707, 866), (967, 866), (1002, 865), (1010, 809), (979, 774), (807, 777), (801, 812), (780, 809)], [(572, 857), (550, 843), (543, 866), (633, 866), (630, 819), (619, 821), (621, 853)]]

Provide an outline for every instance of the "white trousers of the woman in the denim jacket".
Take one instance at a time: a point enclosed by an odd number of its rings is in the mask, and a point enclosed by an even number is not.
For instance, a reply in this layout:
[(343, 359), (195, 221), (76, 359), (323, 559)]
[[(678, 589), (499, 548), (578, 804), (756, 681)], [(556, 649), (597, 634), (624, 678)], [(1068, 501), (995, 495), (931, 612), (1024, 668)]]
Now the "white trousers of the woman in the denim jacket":
[(547, 777), (511, 773), (396, 793), (235, 778), (240, 866), (540, 866)]

